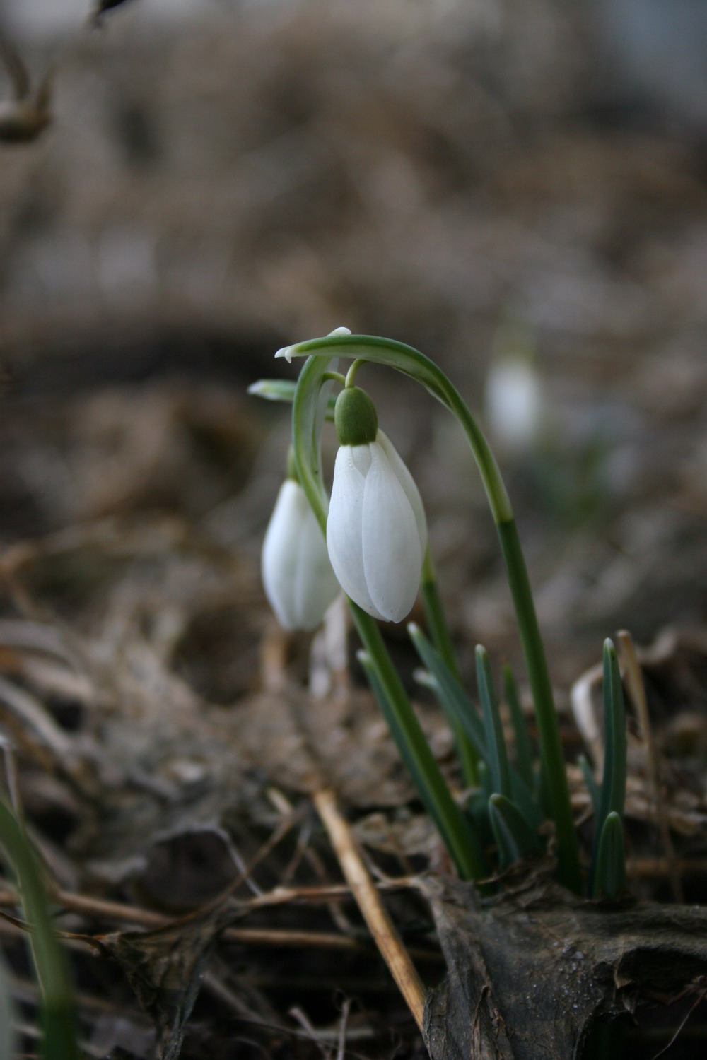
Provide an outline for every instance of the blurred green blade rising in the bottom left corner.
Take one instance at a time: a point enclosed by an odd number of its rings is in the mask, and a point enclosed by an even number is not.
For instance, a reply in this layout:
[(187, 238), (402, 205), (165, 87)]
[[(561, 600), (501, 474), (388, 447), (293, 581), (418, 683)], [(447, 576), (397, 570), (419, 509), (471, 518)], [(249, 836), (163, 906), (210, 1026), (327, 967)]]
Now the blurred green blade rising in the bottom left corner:
[(69, 968), (47, 909), (47, 896), (30, 841), (2, 800), (0, 845), (15, 867), (24, 916), (32, 929), (30, 941), (42, 995), (41, 1055), (45, 1060), (78, 1060)]

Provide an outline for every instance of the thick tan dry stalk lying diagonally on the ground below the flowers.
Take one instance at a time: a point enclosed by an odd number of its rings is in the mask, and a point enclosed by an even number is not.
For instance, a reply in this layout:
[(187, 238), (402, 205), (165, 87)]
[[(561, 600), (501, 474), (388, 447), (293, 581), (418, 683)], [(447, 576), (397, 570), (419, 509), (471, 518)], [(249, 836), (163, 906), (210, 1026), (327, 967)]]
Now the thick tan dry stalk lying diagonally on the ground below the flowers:
[(331, 788), (322, 788), (315, 792), (313, 799), (361, 916), (418, 1027), (422, 1030), (425, 988), (381, 901), (353, 833), (339, 813), (336, 795)]

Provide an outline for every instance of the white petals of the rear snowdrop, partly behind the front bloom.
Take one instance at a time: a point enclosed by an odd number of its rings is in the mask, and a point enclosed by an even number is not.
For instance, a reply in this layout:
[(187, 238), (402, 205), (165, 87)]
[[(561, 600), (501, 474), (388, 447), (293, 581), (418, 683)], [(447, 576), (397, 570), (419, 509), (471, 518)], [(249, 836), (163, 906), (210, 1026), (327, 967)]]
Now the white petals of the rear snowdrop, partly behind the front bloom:
[(319, 524), (304, 490), (291, 478), (280, 487), (261, 572), (270, 606), (286, 630), (314, 630), (339, 591)]

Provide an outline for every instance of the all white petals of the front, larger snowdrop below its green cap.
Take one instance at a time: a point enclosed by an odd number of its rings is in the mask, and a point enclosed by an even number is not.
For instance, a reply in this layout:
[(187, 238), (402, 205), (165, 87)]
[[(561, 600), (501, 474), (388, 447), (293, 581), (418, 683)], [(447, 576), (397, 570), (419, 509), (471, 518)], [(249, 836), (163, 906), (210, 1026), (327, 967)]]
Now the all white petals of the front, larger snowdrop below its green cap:
[(374, 442), (339, 448), (326, 545), (359, 607), (389, 622), (405, 618), (420, 588), (427, 523), (412, 476), (382, 430)]

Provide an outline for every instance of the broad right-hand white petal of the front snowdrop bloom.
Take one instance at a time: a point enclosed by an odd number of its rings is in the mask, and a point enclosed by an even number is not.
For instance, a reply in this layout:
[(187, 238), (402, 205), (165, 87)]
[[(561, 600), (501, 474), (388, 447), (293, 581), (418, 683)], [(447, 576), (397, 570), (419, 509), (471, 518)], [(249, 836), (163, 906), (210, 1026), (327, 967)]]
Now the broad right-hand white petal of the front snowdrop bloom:
[(422, 546), (412, 506), (385, 448), (370, 445), (363, 505), (363, 564), (374, 607), (400, 622), (420, 588)]

